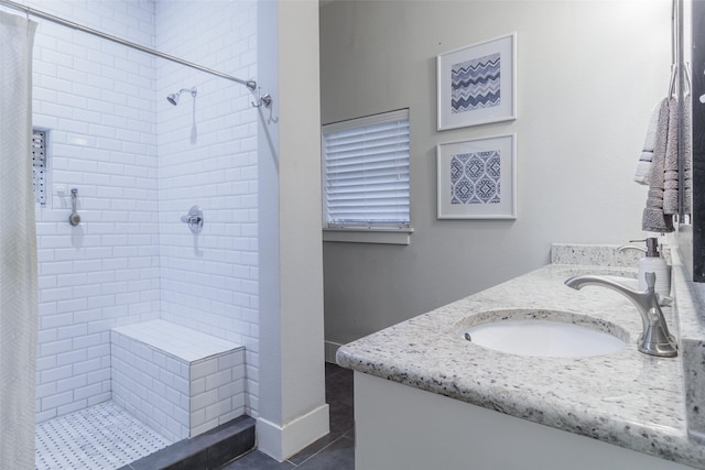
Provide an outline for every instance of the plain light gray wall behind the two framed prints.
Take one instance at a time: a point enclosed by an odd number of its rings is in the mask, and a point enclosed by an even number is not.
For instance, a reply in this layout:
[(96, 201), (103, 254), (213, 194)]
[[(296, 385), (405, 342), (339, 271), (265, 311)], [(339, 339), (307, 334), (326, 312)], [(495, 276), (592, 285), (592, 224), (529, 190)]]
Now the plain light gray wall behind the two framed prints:
[[(631, 181), (668, 90), (670, 0), (335, 1), (322, 122), (411, 109), (411, 245), (324, 243), (326, 341), (345, 343), (549, 262), (552, 242), (643, 238)], [(435, 59), (518, 34), (518, 119), (436, 131)], [(435, 145), (517, 133), (518, 218), (437, 220)]]

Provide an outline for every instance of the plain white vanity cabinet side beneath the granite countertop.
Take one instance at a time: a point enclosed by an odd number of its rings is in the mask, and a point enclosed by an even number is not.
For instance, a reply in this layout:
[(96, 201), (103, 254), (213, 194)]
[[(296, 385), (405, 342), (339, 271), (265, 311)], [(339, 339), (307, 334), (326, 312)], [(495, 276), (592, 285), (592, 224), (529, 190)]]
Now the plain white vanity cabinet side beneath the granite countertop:
[(355, 372), (357, 470), (683, 470), (681, 463)]

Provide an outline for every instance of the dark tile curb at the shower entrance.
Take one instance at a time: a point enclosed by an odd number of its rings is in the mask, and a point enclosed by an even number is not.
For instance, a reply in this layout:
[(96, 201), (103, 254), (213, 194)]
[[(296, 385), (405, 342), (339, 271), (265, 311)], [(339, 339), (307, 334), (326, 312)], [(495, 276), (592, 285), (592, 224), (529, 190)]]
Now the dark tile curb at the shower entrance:
[(254, 419), (240, 416), (180, 440), (119, 470), (215, 470), (254, 448)]

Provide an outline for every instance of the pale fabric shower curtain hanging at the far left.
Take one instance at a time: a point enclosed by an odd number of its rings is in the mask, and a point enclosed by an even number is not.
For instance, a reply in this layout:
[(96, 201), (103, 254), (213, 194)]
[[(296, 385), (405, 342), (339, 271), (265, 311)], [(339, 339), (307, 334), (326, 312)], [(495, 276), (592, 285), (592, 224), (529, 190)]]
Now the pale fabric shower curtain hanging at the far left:
[(34, 469), (37, 269), (32, 190), (36, 23), (0, 11), (0, 469)]

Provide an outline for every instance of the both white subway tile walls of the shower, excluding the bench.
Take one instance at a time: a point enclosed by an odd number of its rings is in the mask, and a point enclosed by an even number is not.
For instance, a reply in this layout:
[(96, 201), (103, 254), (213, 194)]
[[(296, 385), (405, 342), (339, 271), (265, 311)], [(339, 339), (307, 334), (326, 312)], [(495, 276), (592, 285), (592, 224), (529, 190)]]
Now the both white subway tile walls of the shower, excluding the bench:
[[(254, 78), (254, 1), (31, 0), (53, 14)], [(36, 419), (111, 397), (110, 329), (165, 318), (247, 348), (257, 393), (257, 114), (242, 86), (37, 20), (34, 125), (50, 130), (37, 208)], [(196, 86), (177, 107), (166, 96)], [(195, 103), (195, 106), (194, 106)], [(70, 189), (82, 223), (68, 223)], [(205, 226), (180, 221), (192, 205)], [(245, 398), (257, 416), (257, 397)]]

